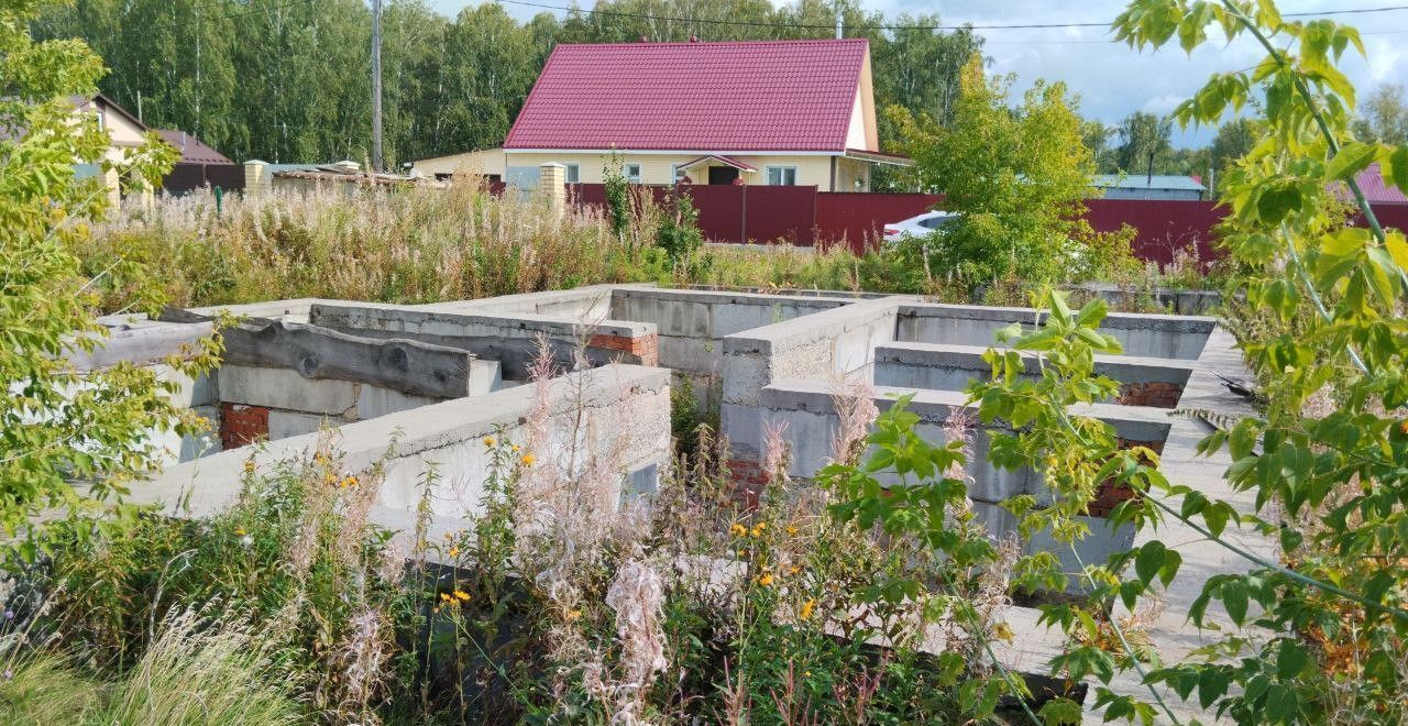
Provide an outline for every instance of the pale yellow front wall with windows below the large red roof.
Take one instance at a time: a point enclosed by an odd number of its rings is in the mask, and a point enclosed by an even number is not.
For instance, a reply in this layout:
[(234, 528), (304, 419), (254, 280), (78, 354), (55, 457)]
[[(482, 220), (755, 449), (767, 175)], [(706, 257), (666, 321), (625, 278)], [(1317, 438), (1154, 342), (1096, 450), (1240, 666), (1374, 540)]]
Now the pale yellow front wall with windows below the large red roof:
[[(641, 165), (641, 183), (642, 184), (670, 184), (674, 182), (672, 176), (673, 165), (680, 165), (698, 159), (698, 153), (629, 153), (620, 152), (617, 158), (621, 165), (638, 163)], [(831, 156), (819, 155), (743, 155), (743, 153), (729, 153), (731, 159), (736, 159), (746, 163), (756, 172), (743, 172), (742, 177), (749, 184), (766, 184), (767, 183), (767, 167), (769, 166), (796, 166), (797, 167), (797, 184), (812, 186), (815, 184), (821, 191), (831, 190)], [(838, 159), (839, 163), (846, 163), (848, 159)], [(541, 166), (545, 163), (560, 163), (569, 165), (574, 163), (579, 167), (579, 180), (589, 184), (600, 184), (603, 179), (603, 170), (611, 163), (610, 155), (600, 153), (586, 153), (586, 152), (543, 152), (543, 153), (507, 153), (507, 166)], [(417, 165), (420, 166), (420, 165)], [(704, 165), (691, 166), (689, 170), (690, 177), (697, 184), (708, 182), (708, 170)], [(839, 189), (839, 184), (838, 184)]]

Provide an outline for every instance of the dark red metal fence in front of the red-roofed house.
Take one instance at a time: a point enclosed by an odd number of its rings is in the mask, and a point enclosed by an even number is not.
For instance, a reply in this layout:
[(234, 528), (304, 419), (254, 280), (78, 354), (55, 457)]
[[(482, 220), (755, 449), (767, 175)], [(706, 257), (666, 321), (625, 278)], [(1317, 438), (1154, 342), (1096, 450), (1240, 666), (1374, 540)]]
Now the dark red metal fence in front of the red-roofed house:
[[(711, 242), (843, 242), (856, 252), (877, 245), (886, 224), (932, 210), (943, 200), (934, 194), (831, 193), (817, 187), (687, 184), (680, 190), (694, 200), (698, 227)], [(670, 187), (650, 191), (659, 203)], [(582, 205), (605, 203), (601, 184), (572, 184), (569, 194)], [(1212, 246), (1212, 228), (1226, 208), (1214, 201), (1086, 200), (1086, 219), (1095, 231), (1133, 227), (1139, 259), (1169, 263), (1190, 246), (1202, 260), (1219, 255)], [(1408, 204), (1376, 205), (1374, 212), (1385, 227), (1408, 229)]]

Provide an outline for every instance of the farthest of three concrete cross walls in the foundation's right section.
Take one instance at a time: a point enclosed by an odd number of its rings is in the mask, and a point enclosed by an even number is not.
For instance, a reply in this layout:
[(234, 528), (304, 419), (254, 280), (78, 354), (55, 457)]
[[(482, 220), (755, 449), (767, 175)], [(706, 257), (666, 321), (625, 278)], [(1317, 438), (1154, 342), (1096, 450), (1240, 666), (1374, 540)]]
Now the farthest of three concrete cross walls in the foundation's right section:
[[(1035, 325), (1031, 308), (911, 304), (900, 310), (897, 339), (912, 343), (990, 346), (998, 328), (1021, 322)], [(1197, 359), (1214, 318), (1112, 312), (1100, 331), (1114, 335), (1125, 355)]]

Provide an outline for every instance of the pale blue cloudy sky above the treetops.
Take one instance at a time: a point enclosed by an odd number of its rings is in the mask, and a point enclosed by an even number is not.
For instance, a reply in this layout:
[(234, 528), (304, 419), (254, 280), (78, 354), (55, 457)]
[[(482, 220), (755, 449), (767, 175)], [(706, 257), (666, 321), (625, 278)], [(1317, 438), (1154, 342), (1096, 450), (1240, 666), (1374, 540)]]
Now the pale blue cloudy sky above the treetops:
[[(536, 0), (542, 4), (569, 6), (570, 0)], [(705, 0), (707, 1), (707, 0)], [(776, 0), (774, 0), (776, 1)], [(431, 6), (453, 15), (466, 0), (431, 0)], [(591, 0), (582, 0), (590, 8)], [(1281, 13), (1325, 11), (1388, 7), (1387, 0), (1284, 0)], [(1052, 0), (862, 0), (866, 10), (883, 11), (888, 18), (901, 13), (938, 13), (943, 24), (1050, 24), (1050, 23), (1108, 23), (1125, 3), (1119, 0), (1087, 0), (1060, 3)], [(542, 8), (505, 6), (508, 13), (527, 20)], [(563, 17), (565, 13), (555, 13)], [(1340, 69), (1359, 89), (1362, 97), (1380, 83), (1408, 84), (1408, 63), (1404, 44), (1408, 42), (1408, 8), (1333, 15), (1333, 20), (1354, 25), (1363, 35), (1367, 58), (1346, 55)], [(1253, 66), (1264, 52), (1250, 38), (1228, 45), (1215, 32), (1209, 42), (1191, 56), (1176, 45), (1157, 52), (1136, 52), (1124, 44), (1110, 42), (1104, 27), (984, 30), (986, 53), (993, 60), (994, 73), (1017, 73), (1014, 90), (1021, 91), (1032, 80), (1062, 80), (1080, 96), (1080, 113), (1105, 124), (1115, 124), (1133, 111), (1167, 114), (1191, 96), (1215, 72), (1242, 70)], [(1178, 129), (1174, 127), (1176, 146), (1202, 146), (1212, 138), (1212, 129)]]

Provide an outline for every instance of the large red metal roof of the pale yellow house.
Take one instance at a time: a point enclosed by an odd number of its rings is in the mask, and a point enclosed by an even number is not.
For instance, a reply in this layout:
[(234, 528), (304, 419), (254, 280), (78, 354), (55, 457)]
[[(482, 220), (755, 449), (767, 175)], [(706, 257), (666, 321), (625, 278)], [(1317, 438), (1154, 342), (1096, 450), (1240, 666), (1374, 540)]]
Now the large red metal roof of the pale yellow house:
[(842, 152), (867, 55), (862, 38), (558, 45), (504, 148)]

